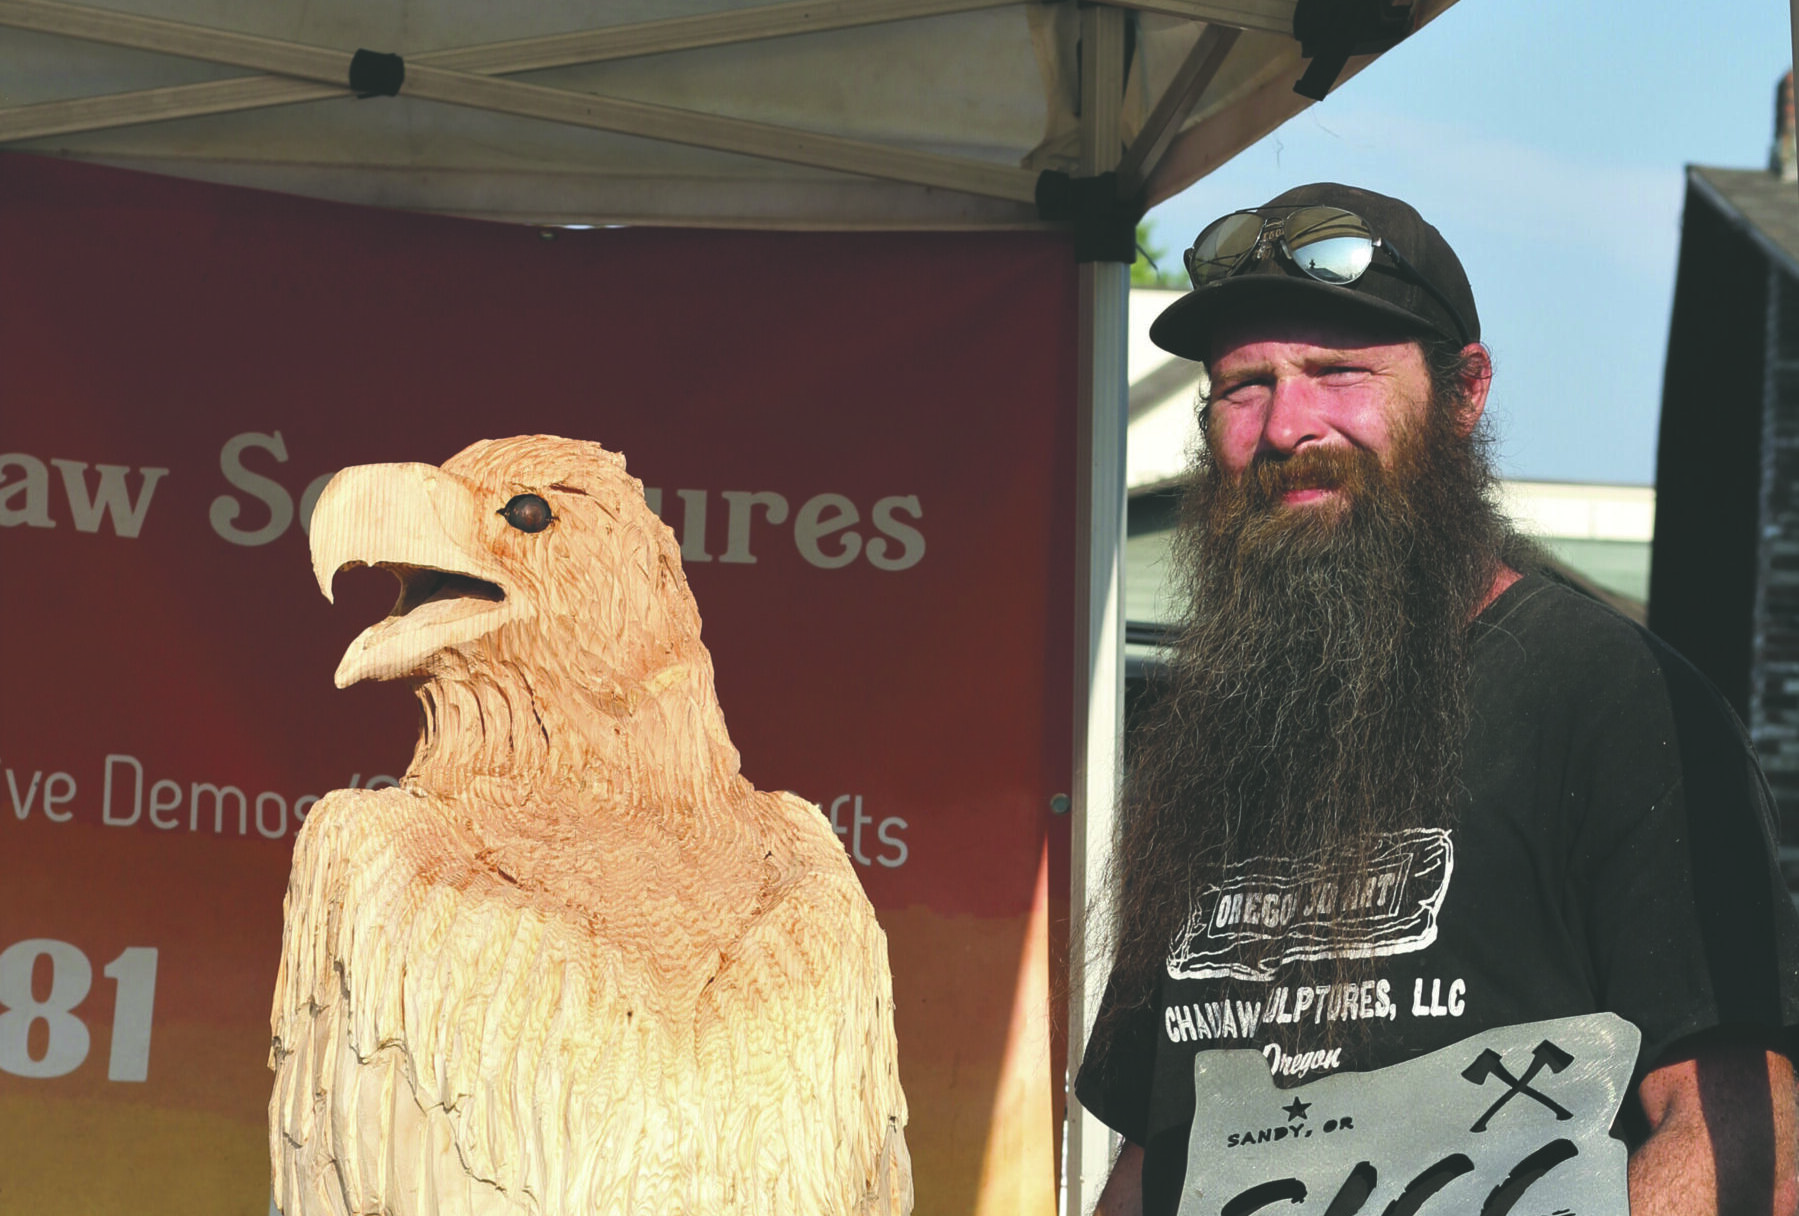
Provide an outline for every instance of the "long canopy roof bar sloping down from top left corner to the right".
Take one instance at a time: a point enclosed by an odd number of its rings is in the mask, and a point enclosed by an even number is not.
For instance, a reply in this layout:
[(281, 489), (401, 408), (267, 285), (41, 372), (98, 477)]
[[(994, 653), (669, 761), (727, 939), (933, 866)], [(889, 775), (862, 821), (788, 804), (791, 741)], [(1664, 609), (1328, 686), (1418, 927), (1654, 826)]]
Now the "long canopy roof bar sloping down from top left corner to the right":
[[(65, 34), (137, 50), (155, 50), (210, 63), (255, 68), (349, 90), (347, 50), (201, 25), (92, 9), (59, 0), (0, 0), (0, 25)], [(473, 72), (408, 63), (405, 95), (453, 106), (543, 119), (671, 144), (761, 156), (786, 164), (855, 173), (939, 189), (1029, 203), (1036, 174), (1011, 165), (943, 156), (820, 135), (766, 122), (727, 119), (640, 101), (601, 97), (567, 88), (525, 85)]]

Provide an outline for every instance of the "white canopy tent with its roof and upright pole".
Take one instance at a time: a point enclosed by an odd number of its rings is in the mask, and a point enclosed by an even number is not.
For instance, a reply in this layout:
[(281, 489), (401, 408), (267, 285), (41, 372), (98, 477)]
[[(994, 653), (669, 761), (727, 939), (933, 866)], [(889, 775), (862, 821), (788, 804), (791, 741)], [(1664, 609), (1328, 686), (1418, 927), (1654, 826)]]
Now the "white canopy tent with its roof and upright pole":
[[(1452, 2), (0, 0), (0, 142), (540, 225), (1018, 228), (1043, 171), (1115, 173), (1087, 207), (1128, 257), (1141, 207), (1308, 104), (1308, 58), (1322, 94)], [(1126, 282), (1081, 268), (1076, 910), (1121, 768)], [(1078, 1061), (1079, 957), (1069, 993)], [(1069, 1212), (1108, 1157), (1070, 1117)]]

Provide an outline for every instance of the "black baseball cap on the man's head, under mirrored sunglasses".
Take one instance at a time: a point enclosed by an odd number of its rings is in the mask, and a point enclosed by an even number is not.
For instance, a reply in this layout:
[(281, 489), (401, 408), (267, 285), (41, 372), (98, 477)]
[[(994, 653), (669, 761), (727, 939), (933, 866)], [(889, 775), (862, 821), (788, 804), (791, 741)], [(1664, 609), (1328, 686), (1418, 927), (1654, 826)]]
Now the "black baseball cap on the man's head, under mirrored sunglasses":
[(1223, 279), (1187, 291), (1150, 326), (1150, 340), (1169, 354), (1204, 362), (1213, 331), (1252, 315), (1365, 317), (1387, 320), (1407, 333), (1481, 340), (1473, 290), (1455, 250), (1409, 203), (1337, 182), (1313, 182), (1268, 200), (1259, 212), (1277, 218), (1281, 207), (1342, 207), (1410, 263), (1419, 277), (1461, 313), (1461, 322), (1418, 284), (1392, 257), (1376, 254), (1355, 282), (1311, 279), (1284, 255), (1270, 254)]

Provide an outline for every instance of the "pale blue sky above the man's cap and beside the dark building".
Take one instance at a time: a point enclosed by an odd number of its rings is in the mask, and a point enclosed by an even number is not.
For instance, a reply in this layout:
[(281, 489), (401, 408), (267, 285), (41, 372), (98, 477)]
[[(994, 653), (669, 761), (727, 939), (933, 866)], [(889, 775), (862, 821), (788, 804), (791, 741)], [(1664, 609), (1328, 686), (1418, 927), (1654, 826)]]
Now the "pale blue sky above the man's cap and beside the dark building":
[(1786, 0), (1459, 0), (1151, 210), (1153, 243), (1301, 182), (1400, 196), (1473, 282), (1502, 471), (1648, 484), (1684, 167), (1767, 164), (1788, 20)]

